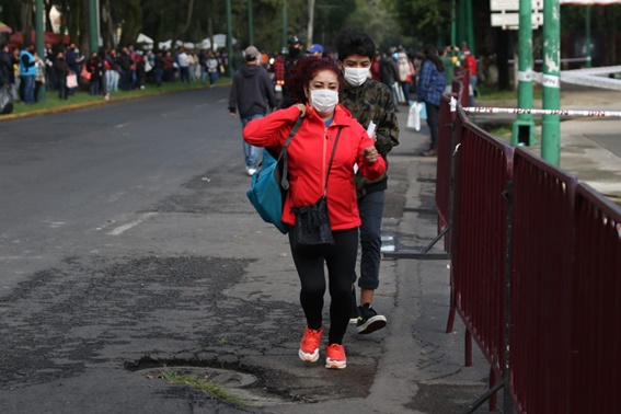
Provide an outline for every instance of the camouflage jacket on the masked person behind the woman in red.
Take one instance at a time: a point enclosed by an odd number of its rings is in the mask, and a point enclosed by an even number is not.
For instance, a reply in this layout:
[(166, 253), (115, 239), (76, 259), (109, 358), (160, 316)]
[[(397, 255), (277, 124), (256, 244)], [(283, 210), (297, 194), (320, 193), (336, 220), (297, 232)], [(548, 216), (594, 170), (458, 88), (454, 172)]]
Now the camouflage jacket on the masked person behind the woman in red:
[[(360, 87), (348, 88), (340, 94), (341, 103), (365, 128), (372, 120), (376, 127), (376, 148), (387, 161), (392, 147), (399, 145), (399, 123), (392, 102), (392, 91), (386, 84), (368, 79)], [(388, 172), (388, 168), (387, 168)], [(388, 175), (384, 173), (376, 181), (369, 181), (358, 172), (356, 174), (358, 197), (387, 188)]]

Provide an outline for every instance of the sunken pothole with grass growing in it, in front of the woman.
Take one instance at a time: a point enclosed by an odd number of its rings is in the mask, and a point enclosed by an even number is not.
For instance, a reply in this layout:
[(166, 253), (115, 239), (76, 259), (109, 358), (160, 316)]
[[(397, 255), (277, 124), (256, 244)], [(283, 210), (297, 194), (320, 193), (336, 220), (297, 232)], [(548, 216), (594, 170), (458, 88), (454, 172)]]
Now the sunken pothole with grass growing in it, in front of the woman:
[(253, 373), (215, 368), (207, 361), (146, 357), (138, 361), (126, 361), (125, 369), (149, 381), (189, 387), (242, 406), (264, 407), (289, 402), (269, 393), (261, 386), (261, 378)]

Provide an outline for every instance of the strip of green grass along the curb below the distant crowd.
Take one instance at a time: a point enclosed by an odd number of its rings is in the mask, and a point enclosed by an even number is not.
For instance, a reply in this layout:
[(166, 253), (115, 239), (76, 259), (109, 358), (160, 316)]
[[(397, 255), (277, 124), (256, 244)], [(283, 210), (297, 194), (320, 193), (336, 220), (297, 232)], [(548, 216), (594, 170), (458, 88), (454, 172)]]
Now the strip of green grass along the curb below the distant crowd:
[[(221, 78), (216, 83), (217, 85), (228, 85), (231, 84), (231, 78)], [(88, 85), (83, 87), (84, 89), (76, 90), (72, 96), (69, 96), (68, 100), (60, 100), (58, 99), (58, 91), (46, 91), (46, 97), (42, 102), (38, 102), (34, 105), (26, 105), (22, 102), (15, 102), (14, 108), (12, 114), (21, 115), (21, 114), (30, 114), (36, 113), (39, 111), (44, 112), (55, 112), (55, 111), (62, 111), (65, 108), (70, 108), (72, 106), (81, 106), (81, 105), (90, 105), (95, 103), (104, 103), (108, 101), (104, 101), (104, 97), (101, 95), (91, 95), (88, 91)], [(204, 89), (209, 88), (209, 81), (194, 81), (192, 83), (181, 83), (181, 82), (163, 82), (161, 87), (157, 87), (153, 83), (147, 83), (145, 89), (136, 89), (133, 91), (117, 91), (111, 93), (111, 101), (114, 100), (124, 100), (124, 99), (131, 99), (131, 97), (140, 97), (140, 96), (149, 96), (149, 95), (158, 95), (162, 93), (171, 93), (177, 91), (187, 91), (193, 89)]]

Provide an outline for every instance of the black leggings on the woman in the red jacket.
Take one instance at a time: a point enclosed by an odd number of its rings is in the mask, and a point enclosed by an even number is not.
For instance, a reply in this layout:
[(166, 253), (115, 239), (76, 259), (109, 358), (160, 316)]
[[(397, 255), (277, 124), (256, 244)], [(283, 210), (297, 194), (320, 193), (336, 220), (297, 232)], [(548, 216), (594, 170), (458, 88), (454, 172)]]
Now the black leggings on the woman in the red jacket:
[[(290, 228), (289, 230), (292, 230)], [(289, 243), (294, 231), (289, 231)], [(294, 263), (302, 285), (300, 302), (310, 329), (319, 330), (322, 325), (323, 296), (325, 294), (325, 274), (327, 265), (330, 280), (330, 332), (329, 344), (342, 344), (352, 313), (352, 274), (356, 269), (358, 254), (358, 228), (332, 232), (334, 249), (326, 255), (306, 256), (291, 252)]]

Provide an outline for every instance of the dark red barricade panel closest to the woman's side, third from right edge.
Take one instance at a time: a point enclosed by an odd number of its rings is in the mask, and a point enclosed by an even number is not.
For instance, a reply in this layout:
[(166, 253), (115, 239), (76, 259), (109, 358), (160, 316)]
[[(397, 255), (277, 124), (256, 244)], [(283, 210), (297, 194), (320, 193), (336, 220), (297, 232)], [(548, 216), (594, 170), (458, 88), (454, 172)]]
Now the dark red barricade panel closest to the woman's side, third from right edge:
[(504, 194), (511, 177), (513, 149), (464, 119), (459, 108), (451, 307), (493, 368), (502, 372), (507, 245)]

